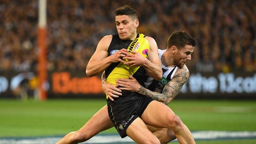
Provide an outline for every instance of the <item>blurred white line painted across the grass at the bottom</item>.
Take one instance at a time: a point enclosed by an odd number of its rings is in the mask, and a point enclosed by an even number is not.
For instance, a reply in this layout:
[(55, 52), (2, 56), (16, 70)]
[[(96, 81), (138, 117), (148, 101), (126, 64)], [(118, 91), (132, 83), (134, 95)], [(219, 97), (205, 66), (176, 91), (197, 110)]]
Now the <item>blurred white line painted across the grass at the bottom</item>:
[[(245, 139), (255, 138), (256, 131), (192, 131), (195, 140)], [(32, 137), (32, 138), (0, 138), (0, 144), (55, 144), (62, 137)], [(130, 137), (119, 135), (96, 135), (82, 144), (134, 143)]]

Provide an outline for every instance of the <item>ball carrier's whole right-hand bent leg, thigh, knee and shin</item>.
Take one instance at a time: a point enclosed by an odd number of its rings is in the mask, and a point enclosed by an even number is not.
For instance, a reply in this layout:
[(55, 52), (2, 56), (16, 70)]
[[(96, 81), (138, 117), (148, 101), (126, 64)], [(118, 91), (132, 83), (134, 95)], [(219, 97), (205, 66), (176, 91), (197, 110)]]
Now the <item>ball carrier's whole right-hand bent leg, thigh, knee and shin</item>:
[(195, 140), (187, 126), (163, 103), (150, 102), (141, 115), (141, 119), (150, 126), (171, 129), (180, 144), (195, 144)]

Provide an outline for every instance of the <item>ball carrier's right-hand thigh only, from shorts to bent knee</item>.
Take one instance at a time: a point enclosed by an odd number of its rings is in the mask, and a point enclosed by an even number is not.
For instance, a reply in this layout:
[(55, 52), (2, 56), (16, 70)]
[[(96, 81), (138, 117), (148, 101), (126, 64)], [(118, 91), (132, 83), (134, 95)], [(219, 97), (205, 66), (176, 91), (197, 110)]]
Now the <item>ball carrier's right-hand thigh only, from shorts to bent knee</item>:
[(174, 118), (176, 115), (173, 111), (165, 104), (152, 101), (148, 104), (147, 108), (141, 115), (141, 119), (150, 126), (157, 128), (169, 128), (168, 122), (171, 118)]

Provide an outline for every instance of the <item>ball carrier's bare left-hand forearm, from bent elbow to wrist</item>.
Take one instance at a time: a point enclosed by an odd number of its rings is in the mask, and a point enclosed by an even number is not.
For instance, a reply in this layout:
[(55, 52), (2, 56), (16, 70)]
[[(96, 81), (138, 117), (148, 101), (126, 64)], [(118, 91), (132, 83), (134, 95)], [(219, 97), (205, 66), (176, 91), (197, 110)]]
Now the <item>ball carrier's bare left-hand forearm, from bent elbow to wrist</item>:
[(101, 74), (106, 68), (108, 68), (109, 65), (111, 65), (111, 60), (109, 57), (106, 57), (103, 60), (93, 60), (90, 61), (86, 67), (86, 75), (88, 77), (97, 76), (98, 74)]

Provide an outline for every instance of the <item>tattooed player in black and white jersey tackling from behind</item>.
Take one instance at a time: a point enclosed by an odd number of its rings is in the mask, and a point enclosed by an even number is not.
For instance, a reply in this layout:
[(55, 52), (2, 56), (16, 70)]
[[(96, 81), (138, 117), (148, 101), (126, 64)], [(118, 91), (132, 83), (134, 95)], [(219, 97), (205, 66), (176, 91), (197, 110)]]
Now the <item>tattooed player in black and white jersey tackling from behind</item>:
[[(171, 100), (180, 92), (182, 86), (189, 78), (189, 70), (185, 63), (191, 60), (191, 54), (195, 46), (195, 40), (184, 31), (176, 31), (168, 39), (168, 46), (165, 50), (158, 50), (159, 59), (163, 70), (163, 78), (159, 81), (148, 78), (145, 87), (140, 85), (135, 78), (118, 79), (116, 81), (119, 89), (104, 82), (102, 88), (106, 94), (118, 98), (121, 90), (138, 92), (159, 102), (168, 105)], [(176, 49), (176, 50), (175, 50)], [(113, 98), (109, 97), (113, 100)], [(106, 109), (106, 108), (105, 108)], [(182, 121), (176, 119), (176, 127), (182, 126)], [(160, 140), (161, 144), (167, 144), (176, 137), (170, 129), (156, 128), (147, 125), (148, 129)]]

